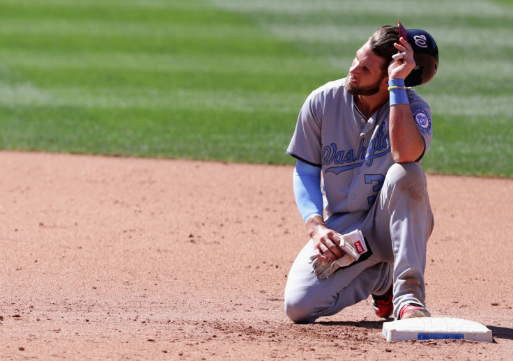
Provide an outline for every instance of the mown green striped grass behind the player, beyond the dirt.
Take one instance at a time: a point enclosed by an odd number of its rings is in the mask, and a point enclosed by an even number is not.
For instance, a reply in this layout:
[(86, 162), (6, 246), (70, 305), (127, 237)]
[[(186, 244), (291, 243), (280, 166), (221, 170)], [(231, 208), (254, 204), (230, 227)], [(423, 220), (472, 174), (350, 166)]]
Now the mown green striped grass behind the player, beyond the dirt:
[(513, 1), (0, 0), (0, 148), (292, 164), (310, 91), (382, 24), (427, 30), (423, 167), (513, 176)]

